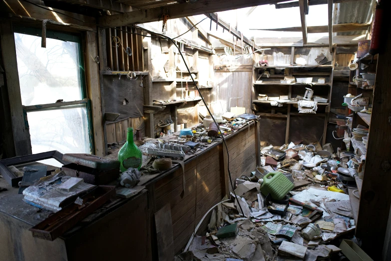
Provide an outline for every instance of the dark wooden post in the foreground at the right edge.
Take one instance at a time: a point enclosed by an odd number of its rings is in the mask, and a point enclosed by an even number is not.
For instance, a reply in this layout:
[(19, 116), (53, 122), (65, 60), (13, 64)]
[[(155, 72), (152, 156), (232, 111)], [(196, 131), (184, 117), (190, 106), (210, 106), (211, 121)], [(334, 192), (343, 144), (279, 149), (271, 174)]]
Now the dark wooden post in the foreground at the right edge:
[[(386, 25), (386, 23), (384, 23)], [(391, 206), (391, 27), (383, 26), (384, 51), (379, 53), (375, 79), (365, 176), (356, 235), (362, 248), (381, 260)], [(389, 242), (387, 242), (388, 245)]]

